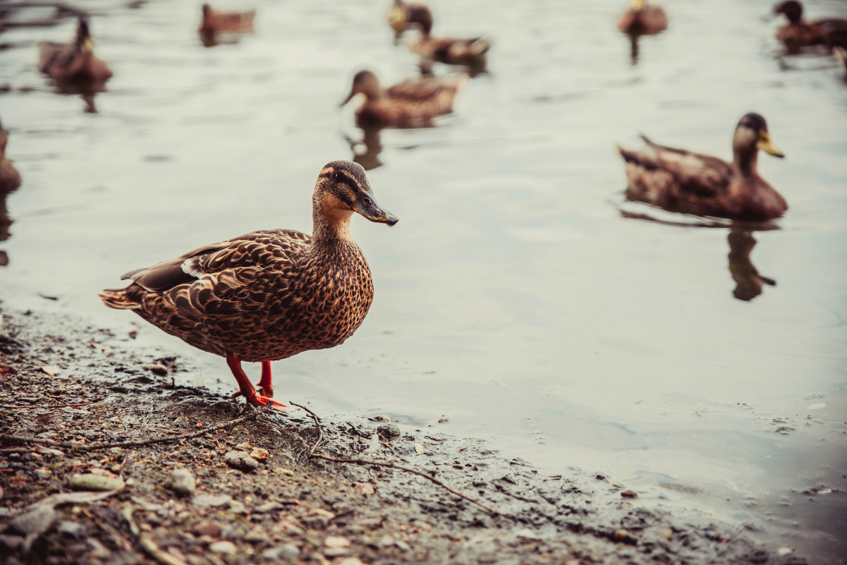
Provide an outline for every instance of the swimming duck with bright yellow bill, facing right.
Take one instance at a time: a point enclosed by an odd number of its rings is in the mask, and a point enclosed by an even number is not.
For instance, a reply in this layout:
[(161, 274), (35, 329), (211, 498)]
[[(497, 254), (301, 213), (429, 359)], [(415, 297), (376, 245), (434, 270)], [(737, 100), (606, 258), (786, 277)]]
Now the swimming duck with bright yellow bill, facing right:
[(759, 149), (783, 157), (759, 114), (746, 114), (735, 128), (732, 163), (642, 138), (646, 145), (637, 152), (617, 147), (627, 163), (628, 200), (729, 219), (773, 219), (788, 209), (756, 171)]

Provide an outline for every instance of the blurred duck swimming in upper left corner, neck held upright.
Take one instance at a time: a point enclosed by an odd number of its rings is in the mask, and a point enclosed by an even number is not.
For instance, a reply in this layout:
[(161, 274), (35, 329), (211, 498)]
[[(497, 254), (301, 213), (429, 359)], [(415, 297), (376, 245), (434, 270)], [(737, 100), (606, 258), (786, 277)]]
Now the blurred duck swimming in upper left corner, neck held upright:
[(58, 82), (102, 84), (112, 78), (112, 70), (94, 55), (94, 40), (88, 30), (88, 16), (80, 15), (76, 39), (72, 43), (38, 42), (38, 70)]

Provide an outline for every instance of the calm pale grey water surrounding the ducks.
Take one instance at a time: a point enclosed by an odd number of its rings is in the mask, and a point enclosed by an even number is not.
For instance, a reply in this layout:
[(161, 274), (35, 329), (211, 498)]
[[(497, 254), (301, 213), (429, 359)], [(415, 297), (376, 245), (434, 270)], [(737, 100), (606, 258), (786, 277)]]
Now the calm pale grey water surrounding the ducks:
[[(700, 507), (822, 560), (847, 554), (847, 86), (826, 57), (780, 64), (765, 1), (668, 1), (670, 27), (629, 62), (625, 2), (430, 4), (435, 31), (494, 41), (488, 75), (430, 130), (383, 130), (374, 192), (400, 224), (354, 219), (376, 299), (344, 346), (274, 363), (284, 399), (387, 413), (483, 437), (556, 474), (577, 466)], [(414, 75), (388, 0), (257, 3), (257, 29), (204, 48), (199, 3), (80, 3), (115, 71), (86, 113), (36, 71), (36, 40), (0, 35), (0, 118), (24, 186), (8, 198), (3, 300), (81, 314), (235, 390), (225, 364), (110, 311), (118, 275), (209, 241), (310, 231), (320, 167), (361, 140), (338, 103), (359, 69)], [(232, 5), (232, 4), (230, 4)], [(838, 0), (812, 17), (847, 15)], [(52, 8), (12, 17), (50, 18)], [(436, 67), (436, 72), (450, 69)], [(351, 105), (354, 106), (354, 105)], [(614, 143), (729, 156), (755, 110), (787, 158), (762, 155), (789, 201), (749, 259), (777, 282), (734, 298), (729, 230), (624, 218)], [(361, 148), (360, 148), (361, 149)], [(734, 236), (740, 268), (744, 247)], [(58, 296), (58, 302), (42, 295)], [(436, 424), (441, 416), (450, 418)], [(817, 494), (813, 491), (817, 490)], [(840, 492), (839, 492), (840, 490)], [(804, 491), (812, 494), (804, 494)]]

